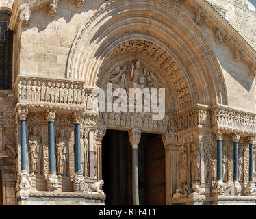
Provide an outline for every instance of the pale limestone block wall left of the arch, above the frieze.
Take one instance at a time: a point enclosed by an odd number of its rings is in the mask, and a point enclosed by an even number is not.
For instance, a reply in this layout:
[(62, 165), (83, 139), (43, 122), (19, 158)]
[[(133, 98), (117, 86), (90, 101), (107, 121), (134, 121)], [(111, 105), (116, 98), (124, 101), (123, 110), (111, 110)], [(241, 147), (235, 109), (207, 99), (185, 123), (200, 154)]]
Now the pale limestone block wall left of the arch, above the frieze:
[(32, 12), (29, 28), (21, 34), (22, 75), (65, 77), (68, 53), (82, 23), (88, 21), (103, 0), (59, 1), (55, 17), (47, 16), (48, 7)]

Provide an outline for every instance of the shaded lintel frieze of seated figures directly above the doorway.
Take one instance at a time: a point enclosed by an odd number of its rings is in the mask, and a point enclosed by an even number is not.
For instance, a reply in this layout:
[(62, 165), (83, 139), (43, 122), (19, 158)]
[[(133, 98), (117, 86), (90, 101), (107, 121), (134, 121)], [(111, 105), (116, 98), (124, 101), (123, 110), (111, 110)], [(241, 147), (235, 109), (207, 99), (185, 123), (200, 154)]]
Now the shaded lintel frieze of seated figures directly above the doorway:
[[(103, 113), (103, 125), (138, 128), (166, 132), (168, 120), (153, 120), (152, 114), (146, 113)], [(170, 125), (170, 123), (169, 123)]]

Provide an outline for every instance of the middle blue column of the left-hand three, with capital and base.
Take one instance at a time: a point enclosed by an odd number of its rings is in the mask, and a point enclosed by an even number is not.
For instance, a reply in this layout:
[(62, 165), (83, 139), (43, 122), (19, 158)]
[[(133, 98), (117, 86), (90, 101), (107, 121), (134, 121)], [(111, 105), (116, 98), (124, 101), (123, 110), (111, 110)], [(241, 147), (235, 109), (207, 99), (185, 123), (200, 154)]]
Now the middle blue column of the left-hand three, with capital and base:
[(45, 114), (48, 122), (48, 154), (49, 154), (49, 173), (47, 176), (47, 191), (57, 190), (58, 180), (55, 170), (55, 146), (54, 146), (54, 120), (55, 110), (47, 110)]

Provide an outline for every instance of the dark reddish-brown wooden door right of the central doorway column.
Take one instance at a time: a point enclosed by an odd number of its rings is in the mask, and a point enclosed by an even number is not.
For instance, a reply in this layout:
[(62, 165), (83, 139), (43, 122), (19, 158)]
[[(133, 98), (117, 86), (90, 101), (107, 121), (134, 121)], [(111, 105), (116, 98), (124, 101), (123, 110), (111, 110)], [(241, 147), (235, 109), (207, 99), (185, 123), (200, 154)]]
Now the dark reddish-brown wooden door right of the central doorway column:
[(157, 136), (147, 145), (148, 205), (166, 204), (165, 149)]

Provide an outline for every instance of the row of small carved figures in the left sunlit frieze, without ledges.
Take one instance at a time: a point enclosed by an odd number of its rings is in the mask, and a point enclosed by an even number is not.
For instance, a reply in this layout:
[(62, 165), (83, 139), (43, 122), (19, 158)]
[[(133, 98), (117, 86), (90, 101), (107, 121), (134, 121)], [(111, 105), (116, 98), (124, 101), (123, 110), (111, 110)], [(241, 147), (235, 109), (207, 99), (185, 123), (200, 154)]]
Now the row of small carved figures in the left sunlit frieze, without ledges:
[(86, 90), (83, 84), (21, 79), (17, 90), (19, 102), (75, 104), (92, 110), (91, 91)]

